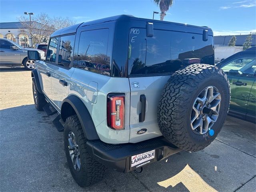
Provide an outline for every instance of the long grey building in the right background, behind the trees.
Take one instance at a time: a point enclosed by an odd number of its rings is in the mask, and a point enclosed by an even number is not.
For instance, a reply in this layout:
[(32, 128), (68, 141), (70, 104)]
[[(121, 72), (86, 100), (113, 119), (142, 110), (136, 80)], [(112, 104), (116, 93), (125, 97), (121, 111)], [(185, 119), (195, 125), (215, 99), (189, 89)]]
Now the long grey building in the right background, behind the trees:
[[(214, 36), (214, 46), (228, 46), (233, 35), (227, 36)], [(248, 35), (235, 35), (236, 36), (236, 46), (243, 46)], [(256, 34), (252, 34), (252, 46), (256, 46)]]

